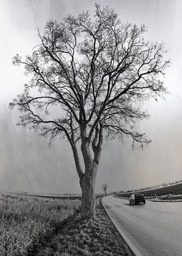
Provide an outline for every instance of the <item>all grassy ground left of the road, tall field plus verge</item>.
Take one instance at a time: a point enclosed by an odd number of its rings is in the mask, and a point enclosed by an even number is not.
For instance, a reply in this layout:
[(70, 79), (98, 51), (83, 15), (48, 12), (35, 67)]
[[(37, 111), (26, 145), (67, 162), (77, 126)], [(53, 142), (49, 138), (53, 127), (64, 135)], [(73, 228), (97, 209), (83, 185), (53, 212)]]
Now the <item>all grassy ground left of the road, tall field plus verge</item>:
[(81, 200), (0, 193), (0, 256), (133, 256), (97, 203), (81, 219)]

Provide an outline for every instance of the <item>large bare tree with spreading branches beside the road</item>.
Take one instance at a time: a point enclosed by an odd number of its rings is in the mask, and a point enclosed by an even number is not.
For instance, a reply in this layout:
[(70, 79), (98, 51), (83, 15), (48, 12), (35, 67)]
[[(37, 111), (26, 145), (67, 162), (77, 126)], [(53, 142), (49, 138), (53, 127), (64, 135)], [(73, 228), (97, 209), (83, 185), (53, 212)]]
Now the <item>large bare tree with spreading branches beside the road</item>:
[(24, 65), (31, 81), (10, 107), (21, 111), (19, 125), (70, 142), (83, 217), (96, 214), (103, 140), (129, 135), (141, 146), (150, 142), (135, 131), (135, 121), (148, 118), (140, 108), (144, 100), (166, 92), (162, 76), (169, 62), (162, 57), (164, 45), (146, 42), (145, 31), (144, 25), (122, 24), (114, 10), (96, 5), (93, 18), (83, 12), (60, 24), (47, 22), (32, 54), (14, 57), (14, 65)]

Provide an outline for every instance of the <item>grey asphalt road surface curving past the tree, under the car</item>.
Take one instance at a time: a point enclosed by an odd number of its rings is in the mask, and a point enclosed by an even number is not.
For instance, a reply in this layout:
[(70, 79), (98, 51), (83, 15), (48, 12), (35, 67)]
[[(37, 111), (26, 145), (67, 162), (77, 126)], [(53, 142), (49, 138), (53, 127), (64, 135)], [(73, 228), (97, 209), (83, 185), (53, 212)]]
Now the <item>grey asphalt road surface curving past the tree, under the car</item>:
[(182, 255), (182, 202), (146, 200), (146, 204), (134, 205), (112, 196), (102, 201), (142, 255)]

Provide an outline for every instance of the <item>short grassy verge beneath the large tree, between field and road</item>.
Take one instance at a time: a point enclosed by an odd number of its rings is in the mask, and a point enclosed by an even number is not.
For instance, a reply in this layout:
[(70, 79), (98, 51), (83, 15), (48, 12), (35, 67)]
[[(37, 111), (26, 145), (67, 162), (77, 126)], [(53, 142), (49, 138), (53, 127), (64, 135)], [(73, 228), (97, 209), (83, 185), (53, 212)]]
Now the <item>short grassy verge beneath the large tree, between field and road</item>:
[(78, 215), (46, 244), (36, 256), (133, 256), (105, 210), (97, 205), (97, 218), (82, 220)]

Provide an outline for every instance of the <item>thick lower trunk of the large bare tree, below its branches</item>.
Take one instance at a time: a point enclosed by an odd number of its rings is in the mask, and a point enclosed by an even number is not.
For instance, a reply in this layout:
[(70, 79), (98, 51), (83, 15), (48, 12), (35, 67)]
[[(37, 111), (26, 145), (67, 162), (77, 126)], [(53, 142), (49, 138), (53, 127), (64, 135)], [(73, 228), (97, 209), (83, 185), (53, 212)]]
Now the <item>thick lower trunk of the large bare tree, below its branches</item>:
[(80, 180), (82, 189), (81, 216), (86, 219), (96, 217), (96, 172), (98, 165), (94, 164)]

